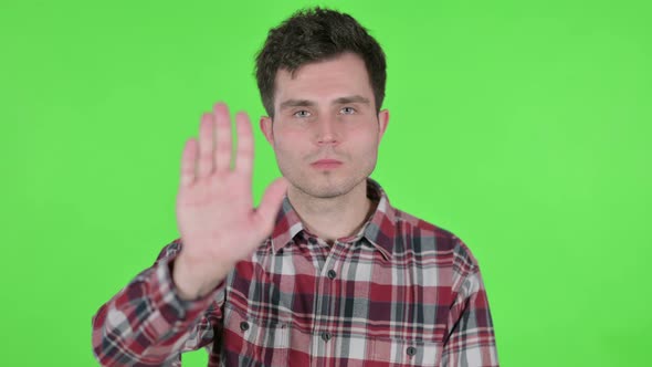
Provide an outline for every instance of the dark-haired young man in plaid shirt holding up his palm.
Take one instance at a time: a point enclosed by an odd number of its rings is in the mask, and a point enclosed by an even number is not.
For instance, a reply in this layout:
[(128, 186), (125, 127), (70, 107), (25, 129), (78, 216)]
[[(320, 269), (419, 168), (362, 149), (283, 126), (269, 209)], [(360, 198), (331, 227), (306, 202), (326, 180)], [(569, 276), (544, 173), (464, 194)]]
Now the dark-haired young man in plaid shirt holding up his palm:
[(260, 127), (283, 178), (252, 209), (253, 141), (204, 114), (182, 154), (180, 239), (103, 305), (104, 365), (497, 366), (476, 260), (454, 234), (390, 206), (369, 178), (389, 122), (386, 63), (351, 17), (295, 13), (256, 59)]

